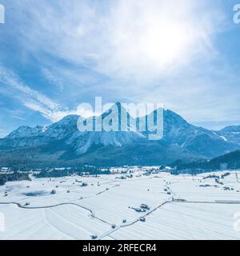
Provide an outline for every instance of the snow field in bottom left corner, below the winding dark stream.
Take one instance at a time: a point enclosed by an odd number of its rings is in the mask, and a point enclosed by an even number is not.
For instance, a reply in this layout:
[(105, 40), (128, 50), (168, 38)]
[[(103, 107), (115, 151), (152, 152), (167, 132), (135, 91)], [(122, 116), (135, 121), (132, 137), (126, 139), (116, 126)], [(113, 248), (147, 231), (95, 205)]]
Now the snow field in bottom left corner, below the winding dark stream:
[(78, 206), (26, 210), (6, 205), (0, 209), (6, 216), (1, 239), (89, 239), (91, 234), (109, 230)]

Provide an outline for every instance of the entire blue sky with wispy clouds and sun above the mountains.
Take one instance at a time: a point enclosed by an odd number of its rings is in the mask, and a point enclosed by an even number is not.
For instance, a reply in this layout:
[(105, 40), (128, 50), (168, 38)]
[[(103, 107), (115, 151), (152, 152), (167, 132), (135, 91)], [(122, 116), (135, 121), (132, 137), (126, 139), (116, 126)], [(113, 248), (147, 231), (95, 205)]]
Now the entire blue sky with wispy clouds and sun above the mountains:
[(161, 102), (211, 129), (240, 124), (238, 1), (0, 3), (0, 137), (95, 96)]

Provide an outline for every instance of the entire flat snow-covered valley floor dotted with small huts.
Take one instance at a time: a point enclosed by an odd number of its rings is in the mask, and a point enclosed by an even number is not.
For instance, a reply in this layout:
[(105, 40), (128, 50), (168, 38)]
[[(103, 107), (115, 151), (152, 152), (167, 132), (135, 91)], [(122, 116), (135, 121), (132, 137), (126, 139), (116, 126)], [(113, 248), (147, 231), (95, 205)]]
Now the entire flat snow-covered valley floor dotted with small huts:
[[(237, 171), (220, 178), (223, 184), (204, 178), (209, 174), (141, 171), (126, 179), (110, 174), (7, 182), (0, 186), (0, 239), (240, 239), (237, 173), (240, 178)], [(138, 212), (141, 204), (149, 209)]]

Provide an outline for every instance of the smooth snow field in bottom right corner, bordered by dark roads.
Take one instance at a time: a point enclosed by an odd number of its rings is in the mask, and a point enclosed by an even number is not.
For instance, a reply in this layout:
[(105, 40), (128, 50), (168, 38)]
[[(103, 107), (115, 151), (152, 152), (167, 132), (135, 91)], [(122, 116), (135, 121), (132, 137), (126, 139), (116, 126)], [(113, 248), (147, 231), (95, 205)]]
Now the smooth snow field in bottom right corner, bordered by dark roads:
[(111, 234), (115, 239), (239, 239), (233, 230), (236, 205), (170, 203), (155, 211), (146, 222), (137, 222)]

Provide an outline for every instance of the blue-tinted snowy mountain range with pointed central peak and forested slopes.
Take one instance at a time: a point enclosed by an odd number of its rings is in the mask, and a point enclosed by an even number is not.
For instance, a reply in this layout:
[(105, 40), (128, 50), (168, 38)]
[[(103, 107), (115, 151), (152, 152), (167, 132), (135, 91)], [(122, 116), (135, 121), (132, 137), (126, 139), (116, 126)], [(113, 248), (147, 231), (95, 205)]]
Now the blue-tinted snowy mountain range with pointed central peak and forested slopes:
[[(115, 106), (119, 110), (116, 114), (126, 111), (120, 103)], [(102, 122), (110, 114), (113, 114), (111, 109), (94, 120)], [(0, 165), (151, 166), (179, 159), (186, 162), (210, 159), (240, 149), (240, 126), (206, 130), (191, 125), (171, 110), (163, 110), (163, 137), (158, 141), (149, 140), (147, 132), (131, 130), (130, 126), (119, 132), (81, 132), (78, 118), (82, 117), (68, 115), (50, 126), (20, 126), (0, 139)], [(135, 121), (138, 123), (139, 118)]]

